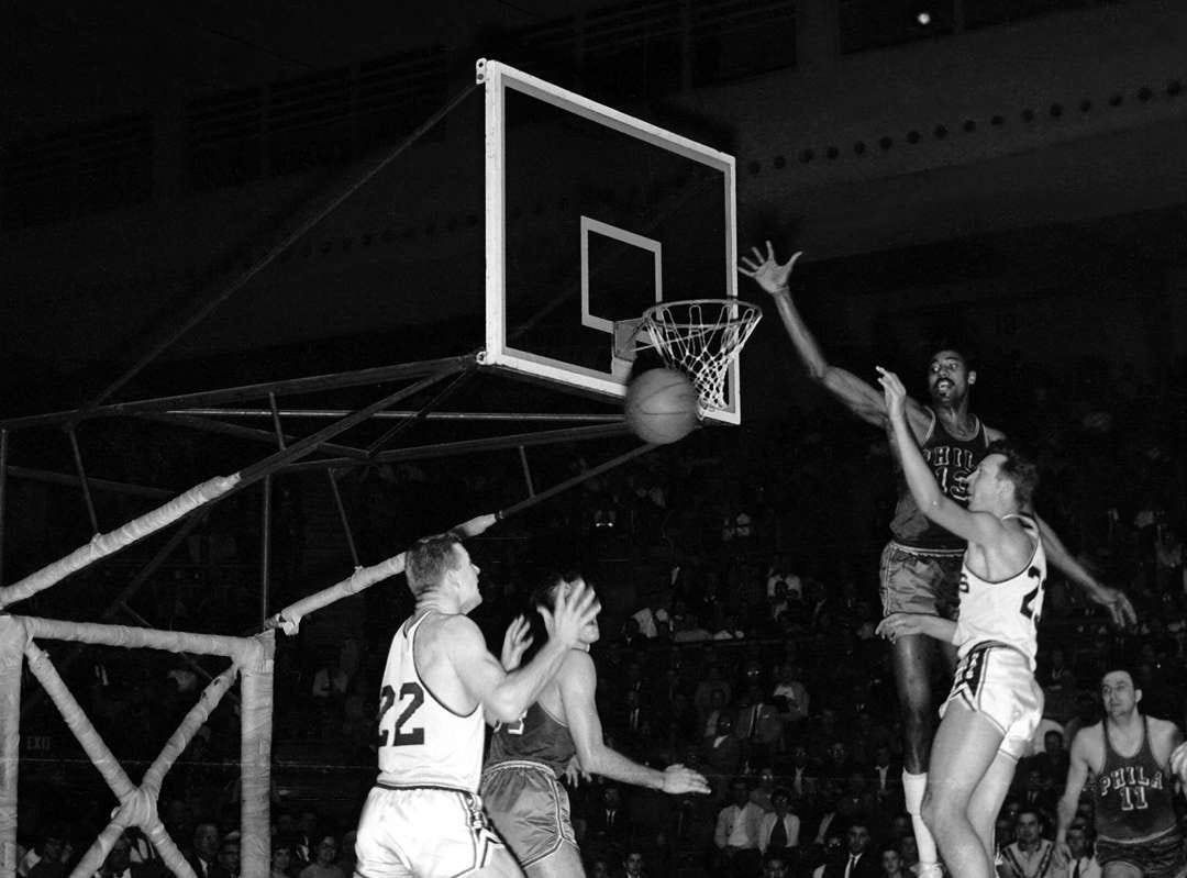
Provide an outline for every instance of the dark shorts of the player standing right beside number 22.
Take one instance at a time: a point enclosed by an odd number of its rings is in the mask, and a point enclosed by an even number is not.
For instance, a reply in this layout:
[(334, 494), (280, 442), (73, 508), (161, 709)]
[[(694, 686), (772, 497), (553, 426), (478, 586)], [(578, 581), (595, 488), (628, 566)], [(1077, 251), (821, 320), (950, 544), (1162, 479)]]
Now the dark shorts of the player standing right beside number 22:
[(501, 762), (482, 772), (482, 799), (503, 841), (521, 866), (577, 847), (569, 794), (552, 769), (539, 762)]

